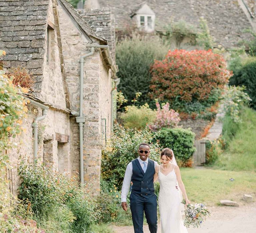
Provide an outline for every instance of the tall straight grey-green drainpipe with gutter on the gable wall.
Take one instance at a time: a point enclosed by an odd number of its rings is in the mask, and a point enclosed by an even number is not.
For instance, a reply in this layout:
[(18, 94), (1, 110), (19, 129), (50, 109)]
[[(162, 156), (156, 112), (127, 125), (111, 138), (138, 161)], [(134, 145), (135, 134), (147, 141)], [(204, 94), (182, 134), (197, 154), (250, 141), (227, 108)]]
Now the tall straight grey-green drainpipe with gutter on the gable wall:
[[(94, 48), (102, 48), (106, 49), (107, 51), (107, 60), (109, 64), (111, 64), (112, 70), (114, 74), (117, 72), (116, 67), (113, 64), (112, 58), (109, 52), (108, 45), (93, 45), (88, 44), (86, 45), (87, 48), (90, 49), (90, 53), (84, 54), (80, 57), (80, 104), (79, 104), (79, 116), (77, 116), (76, 112), (71, 112), (71, 114), (76, 116), (76, 122), (79, 125), (79, 144), (80, 144), (80, 182), (81, 185), (84, 184), (84, 155), (83, 155), (83, 124), (85, 122), (85, 116), (83, 116), (83, 89), (84, 89), (84, 59), (93, 55), (95, 49)], [(115, 76), (114, 76), (115, 77)]]

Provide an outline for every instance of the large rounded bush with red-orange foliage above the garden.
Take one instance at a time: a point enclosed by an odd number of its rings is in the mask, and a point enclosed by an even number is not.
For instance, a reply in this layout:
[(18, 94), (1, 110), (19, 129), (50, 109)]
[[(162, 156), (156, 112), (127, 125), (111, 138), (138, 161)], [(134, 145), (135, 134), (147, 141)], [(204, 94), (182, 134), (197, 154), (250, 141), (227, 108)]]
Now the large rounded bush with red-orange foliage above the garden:
[(151, 68), (151, 98), (178, 102), (205, 101), (211, 91), (228, 83), (232, 73), (226, 62), (211, 50), (169, 50), (163, 61)]

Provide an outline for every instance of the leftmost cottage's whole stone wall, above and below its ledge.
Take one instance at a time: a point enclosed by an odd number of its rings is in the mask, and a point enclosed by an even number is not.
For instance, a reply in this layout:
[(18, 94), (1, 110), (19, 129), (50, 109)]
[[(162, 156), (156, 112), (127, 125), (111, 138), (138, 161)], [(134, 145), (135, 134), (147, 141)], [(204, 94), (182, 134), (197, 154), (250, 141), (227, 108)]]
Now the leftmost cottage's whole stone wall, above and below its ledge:
[[(33, 2), (33, 1), (31, 1)], [(47, 1), (49, 7), (45, 6), (41, 1), (44, 9), (48, 11), (41, 12), (45, 15), (45, 19), (49, 20), (52, 24), (55, 22), (53, 14), (52, 1)], [(32, 3), (31, 3), (32, 4)], [(33, 4), (32, 4), (33, 5)], [(39, 8), (37, 8), (39, 7)], [(32, 11), (32, 9), (34, 9)], [(32, 13), (36, 9), (41, 9), (40, 6), (34, 6), (31, 8)], [(35, 13), (35, 12), (34, 12)], [(37, 12), (39, 14), (39, 12)], [(47, 21), (45, 20), (45, 21)], [(34, 26), (35, 27), (35, 26)], [(46, 26), (44, 25), (46, 28)], [(39, 34), (40, 32), (37, 31)], [(28, 42), (28, 49), (33, 48), (34, 43), (39, 43), (42, 46), (42, 53), (36, 53), (40, 49), (36, 49), (35, 54), (40, 56), (40, 59), (30, 57), (30, 62), (26, 63), (11, 63), (10, 65), (23, 65), (29, 69), (29, 72), (33, 72), (34, 76), (37, 75), (35, 86), (39, 85), (40, 89), (38, 92), (33, 92), (33, 96), (36, 96), (35, 101), (39, 101), (50, 106), (46, 118), (39, 121), (38, 127), (38, 160), (39, 162), (45, 162), (47, 165), (53, 167), (54, 170), (71, 173), (70, 163), (70, 120), (69, 111), (66, 108), (66, 100), (63, 89), (62, 73), (61, 73), (61, 62), (58, 48), (58, 39), (55, 30), (52, 30), (50, 34), (50, 53), (49, 62), (46, 59), (46, 38)], [(39, 46), (38, 44), (38, 46)], [(23, 50), (16, 50), (17, 56), (22, 54)], [(33, 55), (35, 55), (33, 54)], [(32, 59), (33, 58), (33, 59)], [(40, 63), (39, 63), (40, 60)], [(31, 66), (37, 64), (39, 67), (32, 69)], [(33, 99), (33, 98), (32, 98)], [(20, 162), (20, 158), (24, 160), (33, 161), (33, 127), (32, 122), (37, 116), (42, 115), (42, 109), (35, 108), (31, 104), (28, 104), (29, 112), (26, 121), (23, 123), (25, 131), (18, 135), (14, 141), (18, 147), (13, 148), (10, 151), (11, 164), (13, 166), (13, 190), (18, 187), (20, 182), (17, 172), (17, 167)]]

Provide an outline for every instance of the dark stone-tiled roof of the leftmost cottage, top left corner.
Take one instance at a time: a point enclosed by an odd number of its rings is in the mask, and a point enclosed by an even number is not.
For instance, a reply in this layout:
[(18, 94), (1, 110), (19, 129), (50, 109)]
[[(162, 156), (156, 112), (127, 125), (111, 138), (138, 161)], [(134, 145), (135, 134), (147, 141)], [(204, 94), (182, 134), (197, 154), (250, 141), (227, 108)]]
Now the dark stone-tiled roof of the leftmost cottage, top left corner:
[(43, 70), (48, 1), (0, 0), (0, 49), (6, 67), (26, 67), (40, 82)]

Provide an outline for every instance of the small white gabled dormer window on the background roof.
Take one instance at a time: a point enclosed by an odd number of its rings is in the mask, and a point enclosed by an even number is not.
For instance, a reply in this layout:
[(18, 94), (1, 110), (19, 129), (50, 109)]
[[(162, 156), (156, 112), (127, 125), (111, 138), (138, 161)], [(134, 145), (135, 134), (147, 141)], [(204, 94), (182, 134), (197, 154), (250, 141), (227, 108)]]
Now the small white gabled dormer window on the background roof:
[(151, 8), (143, 3), (137, 8), (131, 17), (136, 16), (138, 28), (145, 30), (146, 32), (153, 32), (155, 28), (155, 13)]

